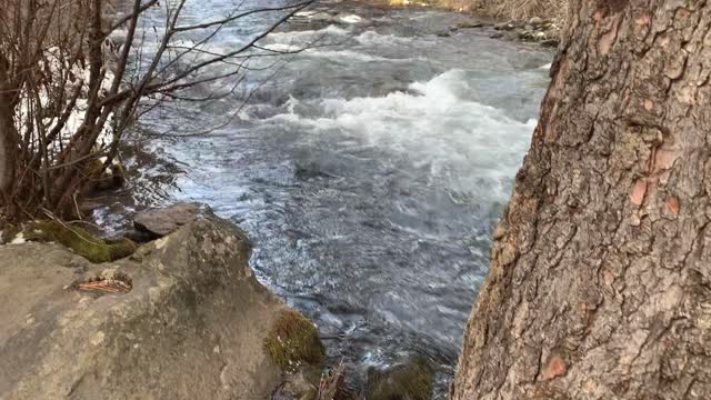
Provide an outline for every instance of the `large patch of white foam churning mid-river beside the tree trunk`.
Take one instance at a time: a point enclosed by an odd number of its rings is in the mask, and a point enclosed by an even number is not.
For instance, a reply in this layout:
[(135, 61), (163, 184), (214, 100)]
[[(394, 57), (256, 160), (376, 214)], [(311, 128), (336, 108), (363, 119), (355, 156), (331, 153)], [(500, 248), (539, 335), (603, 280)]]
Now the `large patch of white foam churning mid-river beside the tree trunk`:
[(314, 141), (323, 140), (321, 134), (346, 134), (361, 146), (384, 148), (427, 166), (430, 179), (447, 180), (469, 201), (490, 202), (492, 194), (503, 201), (535, 121), (519, 122), (467, 100), (472, 89), (462, 73), (451, 70), (385, 97), (326, 99), (318, 104), (318, 117), (299, 114), (299, 101), (292, 99), (287, 112), (267, 122), (297, 124), (314, 132)]

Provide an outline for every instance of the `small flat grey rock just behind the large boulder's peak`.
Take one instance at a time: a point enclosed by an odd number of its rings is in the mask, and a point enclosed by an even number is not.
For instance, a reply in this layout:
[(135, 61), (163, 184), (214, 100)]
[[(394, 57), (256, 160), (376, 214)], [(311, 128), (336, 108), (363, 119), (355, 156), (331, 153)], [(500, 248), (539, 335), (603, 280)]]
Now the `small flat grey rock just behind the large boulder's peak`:
[(160, 209), (149, 209), (139, 212), (133, 218), (133, 227), (153, 239), (170, 234), (180, 227), (194, 221), (206, 212), (207, 208), (196, 203), (177, 203)]

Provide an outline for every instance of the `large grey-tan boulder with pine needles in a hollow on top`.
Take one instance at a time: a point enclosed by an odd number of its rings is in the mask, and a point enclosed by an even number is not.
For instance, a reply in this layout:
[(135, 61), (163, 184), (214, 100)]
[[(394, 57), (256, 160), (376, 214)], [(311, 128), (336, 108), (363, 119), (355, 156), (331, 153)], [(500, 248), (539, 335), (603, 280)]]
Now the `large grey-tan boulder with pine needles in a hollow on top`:
[(216, 219), (103, 264), (58, 244), (0, 247), (0, 399), (269, 398), (284, 372), (266, 341), (292, 311), (249, 252)]

